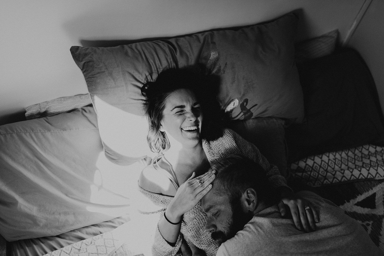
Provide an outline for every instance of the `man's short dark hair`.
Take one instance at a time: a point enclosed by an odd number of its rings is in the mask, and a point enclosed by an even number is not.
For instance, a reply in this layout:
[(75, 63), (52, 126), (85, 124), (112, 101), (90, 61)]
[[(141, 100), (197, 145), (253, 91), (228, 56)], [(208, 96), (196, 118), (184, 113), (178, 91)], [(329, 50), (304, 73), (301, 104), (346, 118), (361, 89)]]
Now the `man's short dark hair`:
[(226, 193), (230, 201), (239, 200), (247, 188), (253, 188), (259, 201), (275, 204), (279, 193), (266, 177), (266, 171), (243, 155), (232, 155), (216, 162), (210, 167), (216, 171), (214, 186)]

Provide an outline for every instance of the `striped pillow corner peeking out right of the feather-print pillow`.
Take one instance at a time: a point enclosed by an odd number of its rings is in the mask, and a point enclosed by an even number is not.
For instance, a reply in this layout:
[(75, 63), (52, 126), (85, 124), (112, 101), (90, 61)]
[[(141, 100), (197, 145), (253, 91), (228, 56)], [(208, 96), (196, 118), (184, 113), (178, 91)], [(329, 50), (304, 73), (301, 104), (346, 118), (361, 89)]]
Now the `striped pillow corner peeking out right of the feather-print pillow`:
[(333, 53), (336, 49), (338, 35), (339, 30), (335, 29), (324, 35), (296, 43), (296, 63), (302, 63), (308, 59), (320, 58)]

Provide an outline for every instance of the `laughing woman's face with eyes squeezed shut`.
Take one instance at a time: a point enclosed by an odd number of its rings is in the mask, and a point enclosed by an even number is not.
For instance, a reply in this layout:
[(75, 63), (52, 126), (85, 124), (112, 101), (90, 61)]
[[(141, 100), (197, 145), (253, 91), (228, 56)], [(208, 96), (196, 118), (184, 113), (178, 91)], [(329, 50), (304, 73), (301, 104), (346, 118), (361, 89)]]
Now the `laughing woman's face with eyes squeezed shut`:
[(203, 115), (194, 92), (177, 89), (166, 99), (160, 130), (183, 146), (200, 142)]

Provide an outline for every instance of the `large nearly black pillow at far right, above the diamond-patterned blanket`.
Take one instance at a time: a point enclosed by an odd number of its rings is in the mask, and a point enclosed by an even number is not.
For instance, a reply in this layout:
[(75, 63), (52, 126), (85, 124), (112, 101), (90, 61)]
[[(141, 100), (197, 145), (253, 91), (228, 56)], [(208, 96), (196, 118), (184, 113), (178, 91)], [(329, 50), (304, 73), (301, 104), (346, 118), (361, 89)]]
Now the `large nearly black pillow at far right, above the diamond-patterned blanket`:
[(288, 162), (384, 141), (374, 80), (357, 51), (345, 48), (298, 64), (305, 121), (286, 129)]

